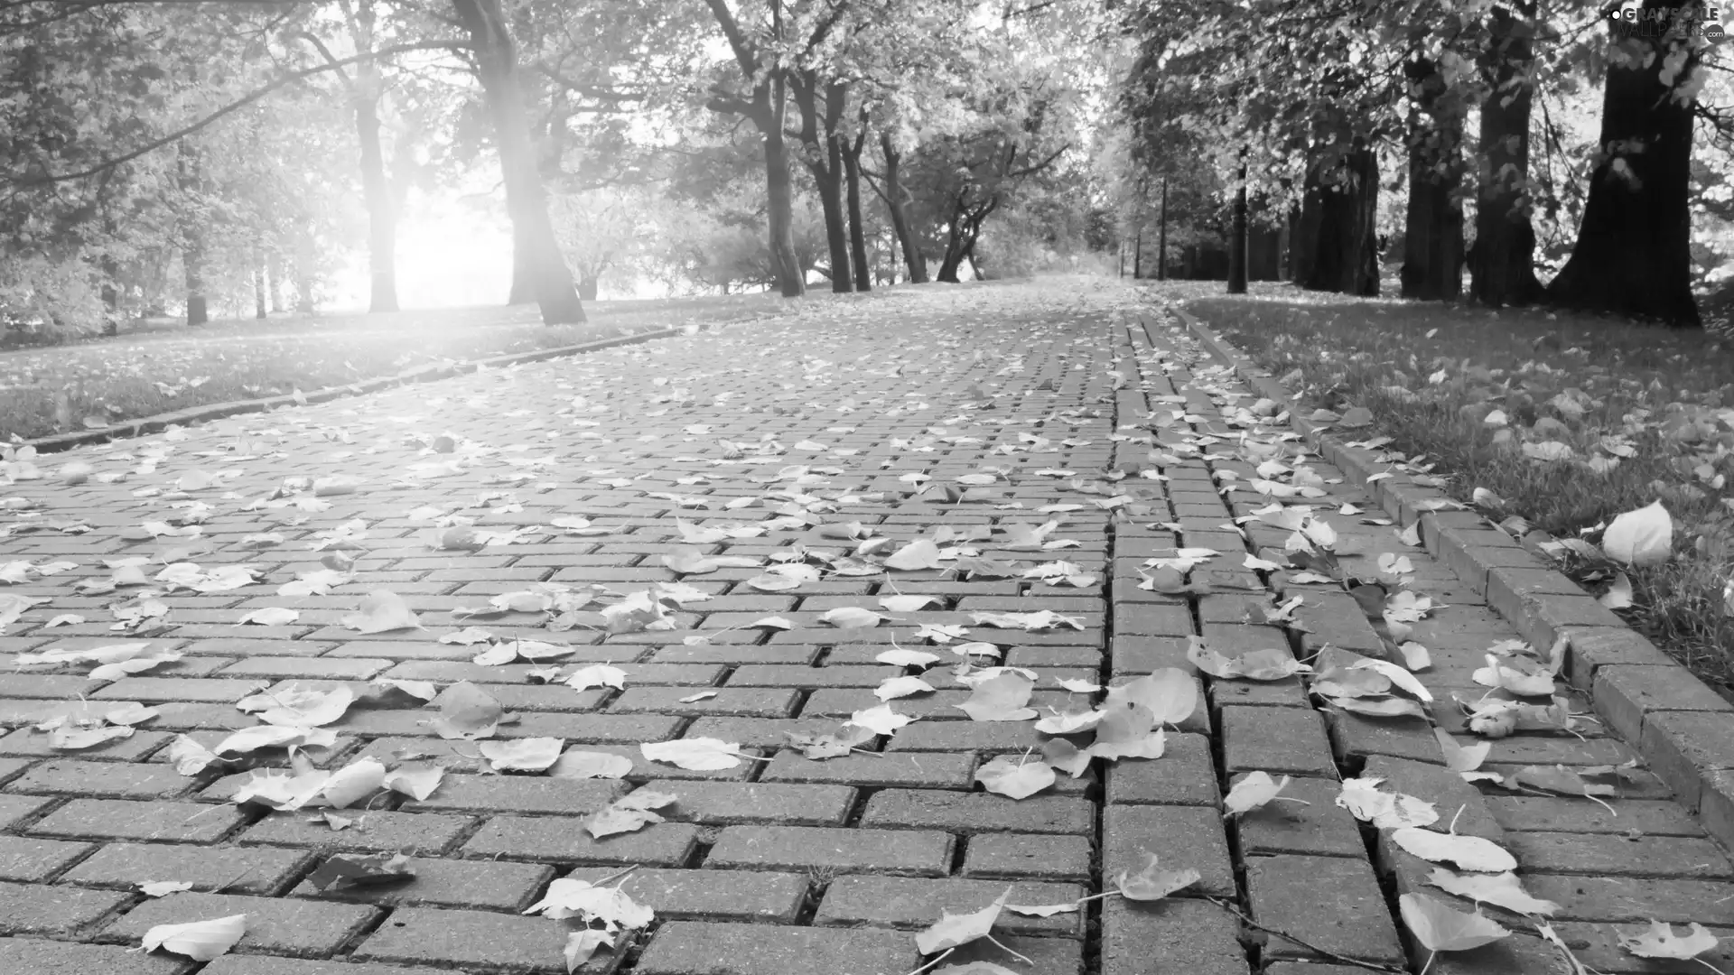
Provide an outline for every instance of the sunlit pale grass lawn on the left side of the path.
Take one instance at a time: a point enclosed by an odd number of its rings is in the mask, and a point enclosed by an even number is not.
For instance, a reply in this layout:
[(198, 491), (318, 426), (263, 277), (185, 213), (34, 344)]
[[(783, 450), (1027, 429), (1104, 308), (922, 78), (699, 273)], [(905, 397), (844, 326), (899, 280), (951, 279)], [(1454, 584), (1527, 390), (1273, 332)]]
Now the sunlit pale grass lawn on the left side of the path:
[(534, 305), (140, 323), (114, 338), (0, 352), (0, 441), (784, 307), (773, 295), (591, 302), (590, 323), (553, 328)]

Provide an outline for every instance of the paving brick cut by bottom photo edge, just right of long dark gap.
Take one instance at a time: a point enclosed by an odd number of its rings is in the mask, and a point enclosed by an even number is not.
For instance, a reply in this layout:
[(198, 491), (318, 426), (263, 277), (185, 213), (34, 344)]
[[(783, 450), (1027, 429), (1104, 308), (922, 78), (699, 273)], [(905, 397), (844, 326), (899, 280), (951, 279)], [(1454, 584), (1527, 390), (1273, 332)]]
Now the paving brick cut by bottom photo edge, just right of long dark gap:
[(1101, 975), (1250, 975), (1240, 921), (1214, 904), (1108, 897), (1101, 909)]

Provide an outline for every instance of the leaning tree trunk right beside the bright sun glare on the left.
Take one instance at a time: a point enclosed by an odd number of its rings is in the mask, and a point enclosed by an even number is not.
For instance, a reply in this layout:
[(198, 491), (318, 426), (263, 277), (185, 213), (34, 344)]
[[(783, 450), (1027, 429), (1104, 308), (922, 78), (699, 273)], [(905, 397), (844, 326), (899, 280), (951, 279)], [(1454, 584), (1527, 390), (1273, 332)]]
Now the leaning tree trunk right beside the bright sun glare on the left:
[(517, 49), (506, 33), (499, 0), (453, 0), (453, 5), (475, 50), (482, 95), (494, 120), (494, 139), (499, 146), (513, 248), (515, 253), (524, 253), (543, 324), (584, 321), (584, 305), (577, 298), (577, 288), (572, 286), (572, 271), (565, 265), (560, 243), (553, 236), (553, 224), (548, 220), (548, 200), (543, 194), (541, 173), (536, 170), (536, 147), (531, 142), (524, 92), (518, 87)]

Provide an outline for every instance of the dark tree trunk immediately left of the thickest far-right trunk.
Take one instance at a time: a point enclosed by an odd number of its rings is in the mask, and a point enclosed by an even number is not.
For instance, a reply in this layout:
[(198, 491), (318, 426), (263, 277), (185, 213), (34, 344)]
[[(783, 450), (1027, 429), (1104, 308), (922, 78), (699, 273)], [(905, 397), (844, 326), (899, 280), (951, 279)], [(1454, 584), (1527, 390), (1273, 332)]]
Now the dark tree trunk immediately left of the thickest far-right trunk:
[(1484, 305), (1528, 305), (1542, 297), (1535, 276), (1535, 226), (1529, 222), (1529, 106), (1535, 88), (1535, 2), (1517, 14), (1495, 7), (1493, 40), (1481, 71), (1490, 94), (1481, 102), (1476, 153), (1476, 243), (1469, 248), (1469, 297)]

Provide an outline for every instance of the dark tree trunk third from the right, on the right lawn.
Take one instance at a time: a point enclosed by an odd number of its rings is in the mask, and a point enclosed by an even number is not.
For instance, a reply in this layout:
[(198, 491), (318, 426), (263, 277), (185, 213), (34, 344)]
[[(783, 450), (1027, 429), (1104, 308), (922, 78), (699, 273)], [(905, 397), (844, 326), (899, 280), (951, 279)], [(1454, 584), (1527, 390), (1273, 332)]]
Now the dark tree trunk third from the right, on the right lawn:
[(1403, 222), (1405, 298), (1455, 300), (1463, 291), (1463, 115), (1429, 59), (1405, 66), (1410, 82), (1408, 213)]

